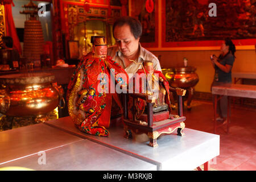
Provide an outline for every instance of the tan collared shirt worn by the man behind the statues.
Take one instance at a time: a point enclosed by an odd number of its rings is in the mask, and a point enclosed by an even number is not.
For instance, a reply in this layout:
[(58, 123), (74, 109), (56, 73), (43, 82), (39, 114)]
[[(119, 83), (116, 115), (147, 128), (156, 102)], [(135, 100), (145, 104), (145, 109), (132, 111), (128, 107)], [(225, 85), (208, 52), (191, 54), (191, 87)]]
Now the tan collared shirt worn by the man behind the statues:
[(138, 69), (142, 69), (142, 65), (138, 63), (143, 63), (145, 60), (152, 61), (153, 67), (157, 71), (161, 71), (160, 63), (158, 58), (153, 55), (151, 52), (147, 51), (145, 48), (141, 47), (139, 43), (139, 57), (135, 60), (136, 63), (131, 63), (128, 67), (125, 67), (125, 64), (122, 60), (122, 52), (119, 51), (118, 46), (111, 46), (108, 48), (108, 55), (112, 57), (114, 61), (116, 61), (125, 71), (127, 74), (135, 74)]

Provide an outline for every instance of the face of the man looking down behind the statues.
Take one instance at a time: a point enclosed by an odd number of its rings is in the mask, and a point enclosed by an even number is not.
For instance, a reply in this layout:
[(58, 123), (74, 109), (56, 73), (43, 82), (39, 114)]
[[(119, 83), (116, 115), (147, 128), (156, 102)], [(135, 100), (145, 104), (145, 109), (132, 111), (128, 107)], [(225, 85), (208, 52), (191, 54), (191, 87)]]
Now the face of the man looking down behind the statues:
[(135, 39), (128, 24), (116, 26), (114, 29), (115, 42), (119, 51), (126, 57), (133, 56), (139, 48), (139, 38)]

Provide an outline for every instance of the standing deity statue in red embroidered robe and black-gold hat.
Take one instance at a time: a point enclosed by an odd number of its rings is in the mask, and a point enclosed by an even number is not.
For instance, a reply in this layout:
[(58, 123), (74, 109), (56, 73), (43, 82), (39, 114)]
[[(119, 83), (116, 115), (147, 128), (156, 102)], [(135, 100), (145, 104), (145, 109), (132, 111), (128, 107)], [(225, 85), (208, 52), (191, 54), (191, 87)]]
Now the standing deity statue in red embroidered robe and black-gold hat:
[(115, 88), (126, 88), (128, 76), (107, 56), (104, 36), (92, 36), (91, 43), (92, 52), (82, 57), (68, 85), (68, 113), (81, 131), (108, 136), (112, 103), (115, 101), (122, 111)]

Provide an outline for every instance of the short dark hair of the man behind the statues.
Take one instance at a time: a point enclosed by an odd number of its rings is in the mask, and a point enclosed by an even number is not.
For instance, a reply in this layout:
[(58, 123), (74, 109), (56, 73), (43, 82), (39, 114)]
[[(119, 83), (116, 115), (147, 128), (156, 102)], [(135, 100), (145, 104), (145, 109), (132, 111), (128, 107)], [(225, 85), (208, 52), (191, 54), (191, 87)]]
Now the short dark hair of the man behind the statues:
[(133, 34), (135, 39), (141, 38), (142, 35), (142, 26), (141, 22), (139, 20), (130, 17), (130, 16), (123, 16), (121, 18), (118, 18), (114, 24), (113, 24), (113, 36), (114, 36), (114, 30), (116, 26), (123, 26), (124, 24), (128, 24), (131, 30), (131, 33)]

